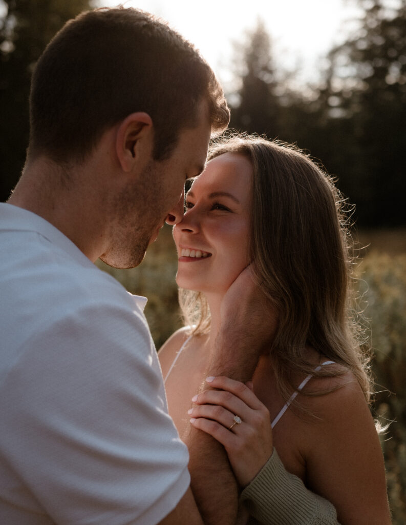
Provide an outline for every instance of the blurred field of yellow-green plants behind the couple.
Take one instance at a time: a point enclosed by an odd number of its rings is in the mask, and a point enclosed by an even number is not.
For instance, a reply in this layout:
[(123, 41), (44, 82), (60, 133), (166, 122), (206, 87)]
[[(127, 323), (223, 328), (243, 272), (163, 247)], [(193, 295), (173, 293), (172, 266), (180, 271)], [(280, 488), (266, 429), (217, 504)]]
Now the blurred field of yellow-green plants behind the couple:
[[(406, 523), (406, 229), (362, 230), (354, 234), (355, 277), (375, 358), (374, 417), (391, 422), (381, 444), (394, 525)], [(145, 314), (157, 348), (180, 327), (175, 283), (177, 257), (165, 226), (142, 265), (115, 270), (99, 262), (123, 286), (148, 297)]]

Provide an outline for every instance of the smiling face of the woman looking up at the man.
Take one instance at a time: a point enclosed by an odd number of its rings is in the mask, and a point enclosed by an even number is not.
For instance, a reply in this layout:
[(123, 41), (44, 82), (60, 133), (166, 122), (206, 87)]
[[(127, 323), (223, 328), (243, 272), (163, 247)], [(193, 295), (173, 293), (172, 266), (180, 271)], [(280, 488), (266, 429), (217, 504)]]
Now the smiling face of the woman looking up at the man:
[(194, 180), (173, 230), (181, 288), (225, 293), (248, 266), (252, 177), (247, 158), (223, 153)]

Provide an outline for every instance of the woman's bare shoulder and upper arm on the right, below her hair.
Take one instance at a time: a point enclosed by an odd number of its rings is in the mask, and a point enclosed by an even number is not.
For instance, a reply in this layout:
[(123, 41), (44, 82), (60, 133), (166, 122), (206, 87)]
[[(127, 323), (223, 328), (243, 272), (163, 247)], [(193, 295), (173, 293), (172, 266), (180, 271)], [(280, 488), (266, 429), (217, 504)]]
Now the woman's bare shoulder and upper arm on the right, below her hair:
[(389, 523), (379, 437), (355, 375), (346, 371), (309, 383), (313, 392), (335, 390), (302, 396), (316, 416), (300, 429), (308, 487), (335, 505), (340, 523)]

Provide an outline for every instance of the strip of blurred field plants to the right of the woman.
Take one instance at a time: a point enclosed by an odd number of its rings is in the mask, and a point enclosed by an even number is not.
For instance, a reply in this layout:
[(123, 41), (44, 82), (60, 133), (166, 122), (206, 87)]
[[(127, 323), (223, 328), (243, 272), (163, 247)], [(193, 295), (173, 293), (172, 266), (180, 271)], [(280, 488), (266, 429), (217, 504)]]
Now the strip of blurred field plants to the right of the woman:
[(393, 523), (400, 525), (406, 523), (406, 253), (372, 251), (357, 273), (375, 354), (375, 410), (383, 425), (390, 423), (381, 445)]

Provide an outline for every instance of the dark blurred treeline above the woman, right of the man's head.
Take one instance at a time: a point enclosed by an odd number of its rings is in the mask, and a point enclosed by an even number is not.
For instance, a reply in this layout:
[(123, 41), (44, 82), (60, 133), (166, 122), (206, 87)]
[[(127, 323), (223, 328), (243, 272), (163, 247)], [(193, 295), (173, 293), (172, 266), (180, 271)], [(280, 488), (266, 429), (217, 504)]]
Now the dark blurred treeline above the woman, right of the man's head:
[(275, 68), (259, 22), (237, 54), (231, 127), (295, 142), (322, 159), (356, 204), (358, 225), (404, 225), (406, 0), (396, 8), (386, 0), (358, 4), (358, 29), (330, 51), (319, 85), (302, 92), (290, 90), (289, 74)]

